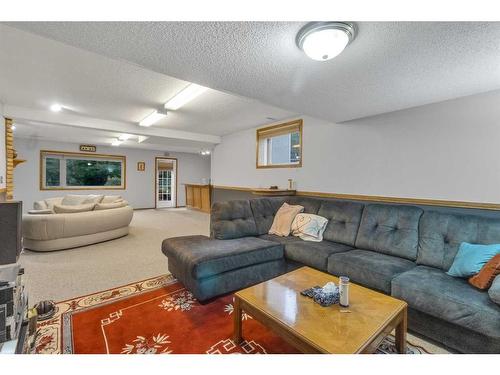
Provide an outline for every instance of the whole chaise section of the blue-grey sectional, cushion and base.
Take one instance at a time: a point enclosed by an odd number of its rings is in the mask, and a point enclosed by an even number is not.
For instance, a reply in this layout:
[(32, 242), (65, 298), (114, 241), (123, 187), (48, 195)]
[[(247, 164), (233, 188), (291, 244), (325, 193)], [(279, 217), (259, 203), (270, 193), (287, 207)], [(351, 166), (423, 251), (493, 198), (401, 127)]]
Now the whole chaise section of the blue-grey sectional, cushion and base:
[(169, 238), (163, 241), (162, 251), (170, 272), (199, 301), (271, 279), (287, 269), (283, 246), (256, 237)]

